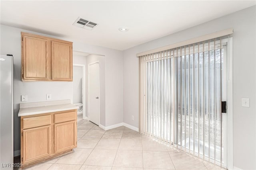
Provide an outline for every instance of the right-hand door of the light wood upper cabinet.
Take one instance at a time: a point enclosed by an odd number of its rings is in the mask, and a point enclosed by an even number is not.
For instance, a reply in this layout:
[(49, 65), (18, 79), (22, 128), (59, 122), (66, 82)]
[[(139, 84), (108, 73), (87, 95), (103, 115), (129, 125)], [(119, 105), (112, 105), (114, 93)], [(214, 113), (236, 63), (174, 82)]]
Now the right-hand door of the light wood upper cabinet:
[(52, 80), (72, 81), (72, 44), (52, 41)]

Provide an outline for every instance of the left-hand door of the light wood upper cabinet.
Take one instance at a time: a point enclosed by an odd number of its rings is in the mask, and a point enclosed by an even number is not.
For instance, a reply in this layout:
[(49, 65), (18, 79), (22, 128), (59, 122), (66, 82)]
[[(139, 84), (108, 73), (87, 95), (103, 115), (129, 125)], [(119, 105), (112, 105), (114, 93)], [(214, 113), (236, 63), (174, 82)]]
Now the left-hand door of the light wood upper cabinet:
[(22, 36), (22, 80), (48, 80), (48, 40)]

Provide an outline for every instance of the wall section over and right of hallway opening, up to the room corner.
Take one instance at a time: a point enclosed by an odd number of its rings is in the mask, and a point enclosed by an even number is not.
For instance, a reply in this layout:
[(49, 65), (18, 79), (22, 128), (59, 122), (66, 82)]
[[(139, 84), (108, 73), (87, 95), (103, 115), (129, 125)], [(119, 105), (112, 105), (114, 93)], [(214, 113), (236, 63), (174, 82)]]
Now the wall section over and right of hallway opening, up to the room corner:
[[(76, 49), (74, 49), (74, 46)], [(123, 122), (123, 52), (95, 45), (74, 43), (74, 51), (105, 56), (105, 125)], [(86, 58), (86, 63), (89, 63)]]

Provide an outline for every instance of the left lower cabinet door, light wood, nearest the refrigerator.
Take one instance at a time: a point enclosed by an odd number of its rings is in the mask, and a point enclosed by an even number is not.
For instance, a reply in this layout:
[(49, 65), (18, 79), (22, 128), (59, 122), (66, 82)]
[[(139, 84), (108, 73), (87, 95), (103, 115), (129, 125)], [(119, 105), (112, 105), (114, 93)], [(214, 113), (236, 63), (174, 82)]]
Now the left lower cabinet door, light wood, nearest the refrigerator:
[(23, 130), (23, 164), (50, 155), (51, 127), (42, 126)]

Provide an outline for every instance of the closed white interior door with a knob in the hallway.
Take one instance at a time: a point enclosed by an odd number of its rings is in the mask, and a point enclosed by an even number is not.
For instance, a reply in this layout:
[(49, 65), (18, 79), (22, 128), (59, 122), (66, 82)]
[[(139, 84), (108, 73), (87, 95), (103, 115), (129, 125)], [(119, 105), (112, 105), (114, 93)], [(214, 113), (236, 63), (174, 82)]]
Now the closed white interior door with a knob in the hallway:
[(100, 123), (100, 67), (99, 63), (89, 64), (89, 119)]

